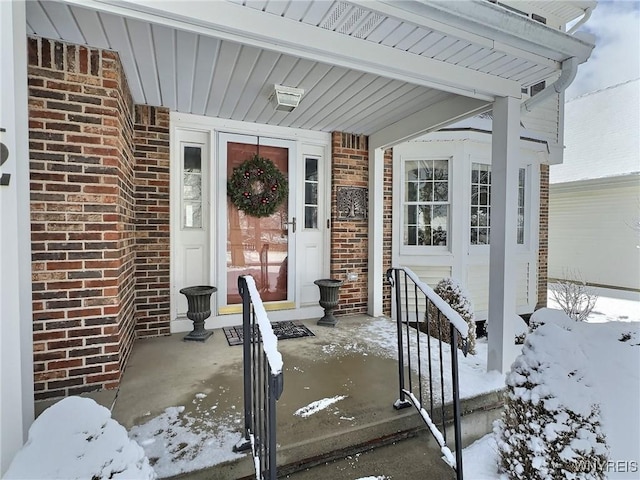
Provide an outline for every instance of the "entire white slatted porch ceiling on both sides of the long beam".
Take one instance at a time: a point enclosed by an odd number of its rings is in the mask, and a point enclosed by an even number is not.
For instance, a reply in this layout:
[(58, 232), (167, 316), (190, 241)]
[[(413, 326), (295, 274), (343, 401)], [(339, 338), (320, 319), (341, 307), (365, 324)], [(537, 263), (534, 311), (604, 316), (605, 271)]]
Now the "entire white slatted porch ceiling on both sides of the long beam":
[[(181, 2), (175, 2), (179, 5)], [(557, 62), (454, 29), (419, 26), (343, 1), (238, 0), (243, 10), (278, 16), (416, 58), (517, 82), (536, 83)], [(184, 5), (184, 4), (183, 4)], [(133, 16), (133, 15), (132, 15)], [(211, 35), (99, 11), (76, 3), (27, 2), (27, 32), (117, 51), (134, 101), (225, 119), (372, 134), (456, 95), (407, 81), (300, 58)], [(477, 37), (477, 38), (476, 38)], [(389, 50), (386, 49), (386, 52)], [(406, 55), (406, 53), (404, 53)], [(304, 88), (292, 113), (276, 112), (274, 83)]]

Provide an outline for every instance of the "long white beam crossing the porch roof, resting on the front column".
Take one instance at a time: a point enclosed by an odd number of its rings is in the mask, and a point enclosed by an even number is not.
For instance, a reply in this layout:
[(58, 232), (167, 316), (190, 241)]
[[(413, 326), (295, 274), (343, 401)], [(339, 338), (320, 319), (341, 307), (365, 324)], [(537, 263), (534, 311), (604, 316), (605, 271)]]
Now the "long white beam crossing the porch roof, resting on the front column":
[(227, 1), (66, 0), (66, 3), (481, 100), (521, 95), (520, 84), (512, 80)]

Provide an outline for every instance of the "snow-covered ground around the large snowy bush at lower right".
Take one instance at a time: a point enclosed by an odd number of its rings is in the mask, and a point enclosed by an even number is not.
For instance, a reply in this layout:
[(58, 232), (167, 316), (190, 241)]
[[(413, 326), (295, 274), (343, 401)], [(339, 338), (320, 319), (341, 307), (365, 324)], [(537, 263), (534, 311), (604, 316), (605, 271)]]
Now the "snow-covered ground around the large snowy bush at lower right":
[[(634, 300), (634, 295), (619, 299), (606, 296), (610, 295), (606, 291), (599, 294), (588, 321), (569, 324), (574, 342), (571, 348), (582, 352), (591, 396), (600, 402), (602, 430), (610, 448), (607, 476), (637, 480), (640, 478), (640, 302)], [(566, 359), (565, 344), (548, 347), (548, 352), (557, 351), (559, 362)], [(572, 396), (575, 392), (565, 389), (564, 394)], [(566, 401), (579, 403), (580, 399)], [(493, 434), (467, 447), (463, 459), (466, 477), (500, 478), (498, 447)]]

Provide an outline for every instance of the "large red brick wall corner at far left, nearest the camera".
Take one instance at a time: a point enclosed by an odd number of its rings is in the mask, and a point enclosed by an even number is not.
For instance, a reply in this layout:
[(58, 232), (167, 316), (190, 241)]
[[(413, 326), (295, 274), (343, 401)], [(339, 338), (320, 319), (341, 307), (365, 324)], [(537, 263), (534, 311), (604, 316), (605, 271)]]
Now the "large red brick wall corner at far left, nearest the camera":
[(28, 47), (38, 400), (118, 385), (135, 338), (138, 191), (117, 54)]

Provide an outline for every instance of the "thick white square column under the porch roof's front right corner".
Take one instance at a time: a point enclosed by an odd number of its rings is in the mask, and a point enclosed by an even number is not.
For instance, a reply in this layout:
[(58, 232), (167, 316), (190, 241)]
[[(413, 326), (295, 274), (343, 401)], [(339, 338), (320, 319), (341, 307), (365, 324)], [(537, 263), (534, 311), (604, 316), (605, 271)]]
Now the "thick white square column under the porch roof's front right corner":
[(491, 246), (489, 265), (488, 370), (506, 372), (514, 358), (516, 315), (516, 217), (520, 102), (498, 97), (493, 104), (491, 146)]

